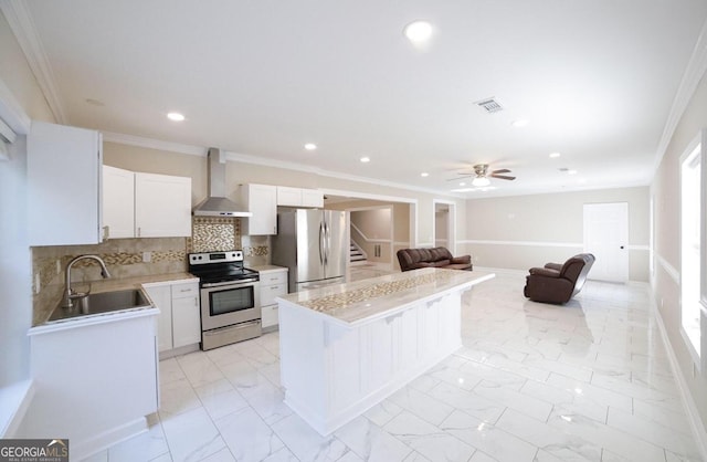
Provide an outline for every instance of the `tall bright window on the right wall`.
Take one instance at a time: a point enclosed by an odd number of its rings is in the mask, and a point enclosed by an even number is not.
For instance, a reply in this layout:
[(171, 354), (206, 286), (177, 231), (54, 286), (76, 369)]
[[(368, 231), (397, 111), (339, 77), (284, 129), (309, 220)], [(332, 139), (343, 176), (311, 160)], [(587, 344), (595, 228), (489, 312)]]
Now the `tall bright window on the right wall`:
[(680, 333), (700, 365), (701, 144), (680, 158)]

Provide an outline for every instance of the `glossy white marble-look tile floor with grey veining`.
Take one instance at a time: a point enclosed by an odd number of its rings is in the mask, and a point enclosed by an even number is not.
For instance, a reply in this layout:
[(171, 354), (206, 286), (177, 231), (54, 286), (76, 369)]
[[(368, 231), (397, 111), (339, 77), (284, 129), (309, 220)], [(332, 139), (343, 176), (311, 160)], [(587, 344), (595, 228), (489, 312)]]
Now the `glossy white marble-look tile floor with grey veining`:
[(502, 275), (464, 296), (464, 347), (330, 437), (283, 403), (277, 333), (160, 363), (149, 434), (92, 461), (698, 461), (647, 287), (566, 306)]

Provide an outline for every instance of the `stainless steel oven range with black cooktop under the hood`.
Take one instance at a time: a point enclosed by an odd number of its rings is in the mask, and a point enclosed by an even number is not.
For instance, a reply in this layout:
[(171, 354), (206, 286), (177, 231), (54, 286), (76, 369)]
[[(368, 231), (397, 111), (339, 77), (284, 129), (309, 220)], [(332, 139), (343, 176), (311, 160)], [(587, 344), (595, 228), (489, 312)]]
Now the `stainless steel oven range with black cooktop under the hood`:
[(261, 336), (260, 276), (243, 266), (243, 251), (189, 254), (199, 277), (201, 349)]

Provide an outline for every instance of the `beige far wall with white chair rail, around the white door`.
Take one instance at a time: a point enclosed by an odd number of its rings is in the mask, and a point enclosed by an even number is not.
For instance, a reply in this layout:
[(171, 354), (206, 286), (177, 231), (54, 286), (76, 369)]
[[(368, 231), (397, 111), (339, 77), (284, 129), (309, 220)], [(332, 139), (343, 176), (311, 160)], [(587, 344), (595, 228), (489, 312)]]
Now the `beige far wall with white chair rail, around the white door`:
[(647, 187), (558, 192), (466, 202), (466, 238), (478, 266), (528, 270), (583, 250), (585, 203), (629, 202), (629, 279), (648, 281)]

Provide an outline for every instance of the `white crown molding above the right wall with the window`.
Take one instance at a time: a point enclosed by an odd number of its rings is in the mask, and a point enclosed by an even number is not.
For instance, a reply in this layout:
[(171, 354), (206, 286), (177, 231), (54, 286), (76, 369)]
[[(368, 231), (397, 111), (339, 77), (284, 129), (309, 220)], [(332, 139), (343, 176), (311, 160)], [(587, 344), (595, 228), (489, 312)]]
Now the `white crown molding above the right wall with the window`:
[(665, 122), (663, 135), (661, 136), (655, 156), (655, 162), (653, 165), (654, 175), (663, 161), (663, 157), (665, 156), (665, 151), (667, 150), (671, 139), (673, 139), (677, 124), (680, 122), (680, 117), (683, 117), (683, 114), (695, 94), (697, 85), (699, 85), (700, 80), (705, 75), (705, 72), (707, 72), (707, 21), (705, 21), (699, 32), (697, 43), (695, 43), (693, 54), (687, 62), (683, 80), (677, 88), (673, 106), (671, 107), (667, 120)]

